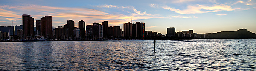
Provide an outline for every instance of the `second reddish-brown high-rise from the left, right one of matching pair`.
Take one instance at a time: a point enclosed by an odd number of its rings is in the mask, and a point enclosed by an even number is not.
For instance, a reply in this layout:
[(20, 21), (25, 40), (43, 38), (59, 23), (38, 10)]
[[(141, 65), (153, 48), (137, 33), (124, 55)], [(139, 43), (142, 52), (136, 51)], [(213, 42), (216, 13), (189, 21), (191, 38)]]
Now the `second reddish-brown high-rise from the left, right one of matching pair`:
[(44, 38), (52, 38), (52, 16), (44, 16), (41, 19), (40, 33)]

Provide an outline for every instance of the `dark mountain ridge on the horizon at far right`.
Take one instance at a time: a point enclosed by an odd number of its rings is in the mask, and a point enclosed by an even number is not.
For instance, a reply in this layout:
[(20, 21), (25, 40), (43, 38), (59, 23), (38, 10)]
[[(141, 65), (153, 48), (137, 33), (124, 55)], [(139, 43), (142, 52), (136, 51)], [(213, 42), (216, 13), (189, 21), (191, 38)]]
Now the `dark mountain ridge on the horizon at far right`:
[(256, 38), (256, 34), (247, 29), (237, 31), (221, 31), (217, 33), (207, 33), (210, 38)]

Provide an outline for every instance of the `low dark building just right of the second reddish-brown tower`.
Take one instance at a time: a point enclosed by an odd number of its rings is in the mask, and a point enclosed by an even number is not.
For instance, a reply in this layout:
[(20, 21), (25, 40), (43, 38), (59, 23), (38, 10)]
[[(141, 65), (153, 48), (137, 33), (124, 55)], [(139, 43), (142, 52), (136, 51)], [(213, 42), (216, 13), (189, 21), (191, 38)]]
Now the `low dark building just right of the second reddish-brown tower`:
[(53, 39), (65, 39), (65, 29), (63, 26), (53, 29)]

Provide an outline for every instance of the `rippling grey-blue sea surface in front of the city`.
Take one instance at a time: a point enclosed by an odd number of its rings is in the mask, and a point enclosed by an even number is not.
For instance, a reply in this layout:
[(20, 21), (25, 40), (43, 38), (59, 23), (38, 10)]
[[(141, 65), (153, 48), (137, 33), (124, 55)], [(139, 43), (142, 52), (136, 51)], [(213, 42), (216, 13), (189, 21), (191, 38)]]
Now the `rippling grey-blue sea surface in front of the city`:
[(255, 71), (256, 39), (0, 42), (3, 70)]

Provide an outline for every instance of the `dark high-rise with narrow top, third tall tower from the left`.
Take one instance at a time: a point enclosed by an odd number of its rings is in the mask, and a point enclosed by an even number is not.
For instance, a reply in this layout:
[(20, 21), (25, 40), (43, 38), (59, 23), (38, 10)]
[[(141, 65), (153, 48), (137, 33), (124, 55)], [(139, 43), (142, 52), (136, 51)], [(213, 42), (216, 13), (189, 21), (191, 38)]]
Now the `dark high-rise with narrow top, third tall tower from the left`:
[[(65, 28), (66, 29), (66, 28)], [(73, 30), (75, 29), (75, 21), (67, 20), (67, 37), (73, 38)]]

